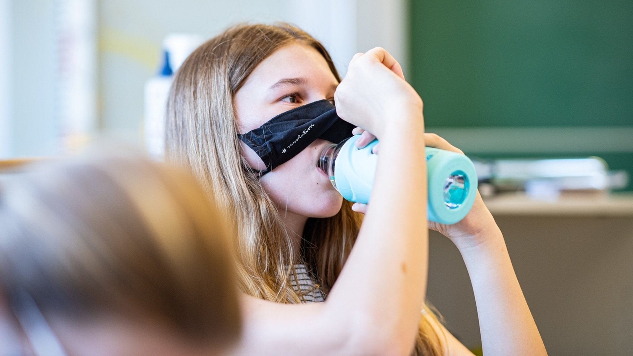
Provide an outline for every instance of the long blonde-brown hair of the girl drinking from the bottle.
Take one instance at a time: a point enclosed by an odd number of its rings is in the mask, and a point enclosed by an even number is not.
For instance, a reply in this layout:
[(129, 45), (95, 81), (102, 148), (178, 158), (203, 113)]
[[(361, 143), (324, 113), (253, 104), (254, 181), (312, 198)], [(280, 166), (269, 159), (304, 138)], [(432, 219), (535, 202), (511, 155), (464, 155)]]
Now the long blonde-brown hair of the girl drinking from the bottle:
[[(196, 49), (177, 72), (167, 104), (166, 155), (191, 168), (237, 224), (238, 276), (241, 288), (258, 298), (299, 303), (289, 283), (293, 266), (306, 262), (328, 293), (354, 245), (362, 217), (344, 201), (339, 213), (309, 219), (302, 251), (292, 250), (279, 212), (240, 155), (235, 93), (254, 68), (289, 44), (316, 49), (339, 82), (323, 45), (287, 23), (237, 25)], [(437, 334), (422, 318), (416, 355), (440, 355)], [(423, 353), (420, 353), (423, 352)]]

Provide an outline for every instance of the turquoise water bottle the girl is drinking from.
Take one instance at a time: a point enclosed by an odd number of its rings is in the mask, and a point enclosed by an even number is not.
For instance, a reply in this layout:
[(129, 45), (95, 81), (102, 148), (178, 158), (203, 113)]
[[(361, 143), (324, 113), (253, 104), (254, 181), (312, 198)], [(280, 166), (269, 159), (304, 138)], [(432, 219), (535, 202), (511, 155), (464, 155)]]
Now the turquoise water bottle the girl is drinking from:
[[(360, 135), (325, 146), (318, 165), (343, 198), (367, 204), (378, 163), (378, 155), (372, 153), (372, 148), (378, 140), (359, 149), (354, 146), (358, 137)], [(429, 186), (427, 219), (455, 224), (466, 216), (475, 202), (475, 166), (467, 156), (444, 149), (427, 147), (425, 153)]]

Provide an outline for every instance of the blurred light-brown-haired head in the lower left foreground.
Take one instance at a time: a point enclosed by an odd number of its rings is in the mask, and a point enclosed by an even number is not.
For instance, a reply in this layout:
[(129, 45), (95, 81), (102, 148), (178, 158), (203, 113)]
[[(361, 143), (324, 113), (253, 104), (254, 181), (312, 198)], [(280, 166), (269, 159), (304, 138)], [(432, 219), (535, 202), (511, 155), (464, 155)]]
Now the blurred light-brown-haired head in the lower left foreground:
[(4, 324), (27, 354), (219, 355), (241, 329), (221, 216), (190, 175), (138, 155), (16, 175), (0, 186)]

